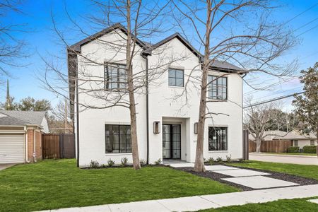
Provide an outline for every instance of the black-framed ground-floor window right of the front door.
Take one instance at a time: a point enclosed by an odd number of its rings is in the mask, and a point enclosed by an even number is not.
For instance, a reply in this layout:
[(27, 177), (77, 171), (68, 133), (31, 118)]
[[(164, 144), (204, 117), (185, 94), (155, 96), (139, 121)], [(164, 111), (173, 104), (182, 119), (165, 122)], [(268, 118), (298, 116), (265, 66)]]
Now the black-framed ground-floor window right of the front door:
[(208, 151), (228, 150), (228, 127), (208, 127)]

